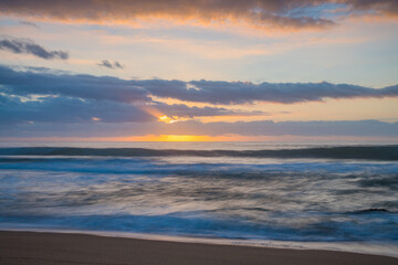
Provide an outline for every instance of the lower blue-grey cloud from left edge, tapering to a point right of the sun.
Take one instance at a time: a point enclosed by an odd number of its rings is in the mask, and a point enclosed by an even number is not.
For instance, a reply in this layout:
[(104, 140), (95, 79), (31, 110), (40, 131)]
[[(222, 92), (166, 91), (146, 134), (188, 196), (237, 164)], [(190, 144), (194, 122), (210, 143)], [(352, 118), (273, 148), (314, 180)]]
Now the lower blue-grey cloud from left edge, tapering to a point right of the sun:
[(169, 116), (170, 120), (203, 116), (255, 116), (262, 112), (229, 110), (217, 107), (189, 107), (184, 104), (134, 105), (112, 100), (98, 103), (95, 99), (82, 99), (69, 96), (41, 96), (22, 100), (18, 96), (0, 94), (0, 124), (25, 123), (148, 123), (159, 116)]

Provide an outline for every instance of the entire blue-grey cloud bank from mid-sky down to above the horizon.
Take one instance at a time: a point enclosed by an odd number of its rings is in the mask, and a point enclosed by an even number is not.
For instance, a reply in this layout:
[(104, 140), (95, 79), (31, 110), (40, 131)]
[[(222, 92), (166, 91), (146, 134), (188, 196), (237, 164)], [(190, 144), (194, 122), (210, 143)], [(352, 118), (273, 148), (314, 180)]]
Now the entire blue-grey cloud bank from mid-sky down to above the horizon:
[[(295, 103), (325, 97), (397, 96), (398, 86), (383, 89), (353, 85), (229, 83), (209, 81), (125, 81), (109, 76), (74, 75), (48, 68), (0, 66), (1, 137), (242, 135), (242, 136), (398, 136), (398, 123), (284, 121), (208, 123), (179, 117), (264, 116), (263, 112), (230, 107), (165, 104), (154, 95), (202, 103)], [(109, 123), (112, 125), (109, 125)], [(56, 125), (56, 126), (54, 126)]]

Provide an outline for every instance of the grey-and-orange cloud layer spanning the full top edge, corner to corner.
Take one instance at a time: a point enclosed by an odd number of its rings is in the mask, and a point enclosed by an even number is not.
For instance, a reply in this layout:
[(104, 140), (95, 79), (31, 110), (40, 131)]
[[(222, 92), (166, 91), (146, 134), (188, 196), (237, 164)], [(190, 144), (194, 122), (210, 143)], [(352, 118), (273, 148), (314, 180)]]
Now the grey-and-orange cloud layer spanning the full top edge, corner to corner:
[(4, 0), (3, 14), (30, 15), (55, 20), (134, 21), (159, 18), (188, 22), (245, 23), (255, 28), (324, 28), (339, 17), (366, 13), (398, 14), (396, 0)]

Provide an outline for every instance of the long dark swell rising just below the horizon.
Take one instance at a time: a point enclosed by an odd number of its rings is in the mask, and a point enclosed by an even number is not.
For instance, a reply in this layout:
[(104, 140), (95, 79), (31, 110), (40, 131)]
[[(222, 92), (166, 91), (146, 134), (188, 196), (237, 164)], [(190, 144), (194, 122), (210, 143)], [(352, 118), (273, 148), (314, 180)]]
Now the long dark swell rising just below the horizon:
[(71, 148), (14, 147), (0, 148), (1, 156), (112, 156), (112, 157), (250, 157), (250, 158), (321, 158), (397, 161), (398, 146), (342, 146), (280, 150), (177, 150), (148, 148)]

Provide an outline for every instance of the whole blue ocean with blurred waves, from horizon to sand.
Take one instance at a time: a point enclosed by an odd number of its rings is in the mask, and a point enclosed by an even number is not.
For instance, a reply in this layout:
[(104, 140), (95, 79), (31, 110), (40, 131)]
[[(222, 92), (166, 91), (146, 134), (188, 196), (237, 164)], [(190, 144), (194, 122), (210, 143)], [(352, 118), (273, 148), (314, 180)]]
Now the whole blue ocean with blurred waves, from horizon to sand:
[(0, 229), (396, 255), (398, 145), (1, 142)]

